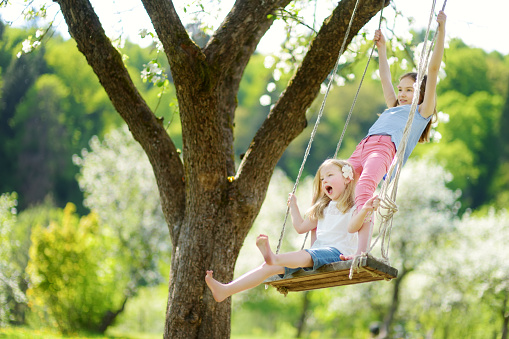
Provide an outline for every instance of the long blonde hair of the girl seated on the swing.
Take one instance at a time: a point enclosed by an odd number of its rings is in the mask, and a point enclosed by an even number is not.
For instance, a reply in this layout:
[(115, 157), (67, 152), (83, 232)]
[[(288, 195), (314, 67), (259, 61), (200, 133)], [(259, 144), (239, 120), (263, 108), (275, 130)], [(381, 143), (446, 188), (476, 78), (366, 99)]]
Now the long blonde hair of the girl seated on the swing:
[[(315, 179), (313, 181), (312, 205), (306, 212), (310, 219), (318, 220), (323, 218), (324, 215), (323, 211), (331, 201), (331, 199), (322, 190), (322, 181), (320, 179), (321, 177), (320, 172), (322, 168), (330, 164), (338, 166), (341, 173), (343, 173), (342, 172), (343, 166), (350, 166), (353, 170), (353, 166), (350, 165), (348, 161), (340, 159), (327, 159), (320, 165), (318, 171), (316, 171)], [(339, 198), (336, 206), (338, 210), (340, 210), (342, 213), (346, 213), (354, 205), (355, 205), (355, 180), (350, 180), (350, 182), (346, 184), (345, 190), (343, 191), (343, 194), (341, 194), (341, 197)]]

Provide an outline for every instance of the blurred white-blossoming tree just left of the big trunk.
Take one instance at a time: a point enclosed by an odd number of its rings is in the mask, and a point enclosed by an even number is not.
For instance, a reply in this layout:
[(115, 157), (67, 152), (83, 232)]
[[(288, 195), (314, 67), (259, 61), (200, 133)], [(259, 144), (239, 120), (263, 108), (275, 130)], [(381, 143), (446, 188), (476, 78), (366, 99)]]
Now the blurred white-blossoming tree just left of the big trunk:
[(146, 154), (127, 126), (110, 132), (103, 141), (94, 137), (89, 144), (90, 152), (84, 150), (81, 157), (73, 157), (80, 167), (83, 204), (99, 215), (102, 232), (113, 232), (129, 249), (114, 250), (151, 253), (151, 258), (133, 260), (145, 260), (141, 273), (149, 280), (160, 280), (157, 262), (165, 258), (159, 254), (168, 253), (170, 241)]

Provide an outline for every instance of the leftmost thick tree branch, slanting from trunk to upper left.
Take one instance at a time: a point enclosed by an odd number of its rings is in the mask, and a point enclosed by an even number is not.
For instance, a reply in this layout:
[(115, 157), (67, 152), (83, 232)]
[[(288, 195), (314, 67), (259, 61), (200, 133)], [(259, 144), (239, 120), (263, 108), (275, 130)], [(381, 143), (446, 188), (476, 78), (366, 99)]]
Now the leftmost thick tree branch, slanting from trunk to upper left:
[[(134, 86), (122, 57), (111, 45), (88, 0), (57, 0), (69, 33), (86, 57), (117, 112), (143, 147), (158, 182), (165, 215), (178, 227), (183, 219), (183, 166), (162, 122), (152, 113)], [(164, 161), (161, 161), (164, 160)], [(165, 198), (167, 197), (167, 198)], [(171, 197), (171, 200), (169, 199)], [(174, 238), (174, 232), (170, 229)]]

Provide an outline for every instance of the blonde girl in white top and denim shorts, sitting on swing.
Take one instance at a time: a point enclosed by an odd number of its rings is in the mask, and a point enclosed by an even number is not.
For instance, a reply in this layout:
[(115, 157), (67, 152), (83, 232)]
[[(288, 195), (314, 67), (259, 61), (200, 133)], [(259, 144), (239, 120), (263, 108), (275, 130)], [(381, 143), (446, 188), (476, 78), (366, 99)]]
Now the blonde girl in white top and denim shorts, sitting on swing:
[[(357, 247), (357, 234), (349, 233), (348, 228), (359, 228), (364, 217), (378, 207), (377, 197), (368, 199), (354, 217), (354, 191), (351, 165), (338, 159), (326, 160), (318, 169), (313, 183), (313, 205), (303, 218), (297, 205), (297, 198), (290, 194), (292, 224), (297, 233), (313, 231), (312, 246), (309, 249), (275, 254), (266, 235), (259, 235), (256, 246), (265, 259), (265, 263), (233, 280), (222, 284), (207, 271), (205, 282), (217, 302), (232, 294), (260, 285), (275, 274), (285, 276), (300, 268), (317, 269), (325, 264), (340, 261), (340, 255), (352, 254)], [(315, 230), (316, 229), (316, 230)], [(316, 239), (316, 240), (315, 240)], [(313, 241), (315, 240), (315, 241)]]

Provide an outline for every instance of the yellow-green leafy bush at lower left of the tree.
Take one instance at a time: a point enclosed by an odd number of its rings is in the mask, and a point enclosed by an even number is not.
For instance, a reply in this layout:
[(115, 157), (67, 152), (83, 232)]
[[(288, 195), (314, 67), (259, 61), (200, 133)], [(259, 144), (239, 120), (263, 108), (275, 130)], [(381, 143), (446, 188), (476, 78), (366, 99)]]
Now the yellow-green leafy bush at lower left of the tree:
[(125, 273), (111, 256), (118, 240), (99, 230), (97, 215), (80, 218), (72, 204), (58, 222), (32, 230), (27, 295), (33, 309), (47, 308), (63, 333), (97, 331), (125, 298), (118, 288)]

